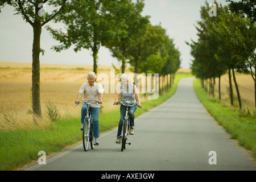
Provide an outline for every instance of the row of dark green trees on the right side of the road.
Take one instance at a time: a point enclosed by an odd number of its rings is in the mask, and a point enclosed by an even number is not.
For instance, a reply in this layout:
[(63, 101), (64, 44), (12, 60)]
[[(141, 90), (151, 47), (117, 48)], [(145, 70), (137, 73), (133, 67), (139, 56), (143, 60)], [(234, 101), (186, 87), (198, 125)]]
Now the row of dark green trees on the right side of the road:
[[(229, 0), (228, 0), (229, 1)], [(230, 104), (234, 105), (232, 77), (240, 110), (242, 110), (239, 86), (235, 72), (250, 74), (255, 85), (256, 109), (256, 26), (253, 1), (233, 2), (229, 6), (218, 5), (217, 16), (209, 16), (209, 3), (201, 7), (201, 21), (197, 31), (199, 39), (191, 46), (192, 73), (204, 80), (209, 79), (210, 93), (214, 94), (215, 78), (219, 78), (218, 90), (221, 99), (221, 76), (228, 72)], [(253, 13), (254, 12), (254, 13)]]

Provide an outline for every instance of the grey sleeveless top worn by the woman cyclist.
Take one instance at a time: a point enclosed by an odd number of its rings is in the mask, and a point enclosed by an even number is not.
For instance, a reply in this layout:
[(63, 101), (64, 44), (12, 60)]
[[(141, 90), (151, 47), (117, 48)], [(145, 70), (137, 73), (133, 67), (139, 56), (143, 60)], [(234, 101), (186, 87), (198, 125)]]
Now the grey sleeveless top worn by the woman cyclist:
[(133, 92), (133, 84), (127, 85), (127, 90), (124, 85), (121, 85), (121, 102), (125, 104), (126, 101), (130, 101), (131, 104), (136, 102), (135, 93)]

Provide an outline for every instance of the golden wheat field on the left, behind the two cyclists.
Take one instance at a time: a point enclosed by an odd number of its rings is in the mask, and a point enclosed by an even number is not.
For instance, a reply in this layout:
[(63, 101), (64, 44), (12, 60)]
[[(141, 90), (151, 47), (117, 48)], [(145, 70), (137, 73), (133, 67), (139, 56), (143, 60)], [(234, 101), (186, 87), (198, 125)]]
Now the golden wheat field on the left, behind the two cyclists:
[[(29, 63), (0, 62), (0, 130), (34, 127), (31, 108), (32, 69)], [(3, 69), (9, 68), (9, 69)], [(10, 69), (15, 68), (15, 69)], [(56, 105), (62, 117), (80, 117), (81, 106), (75, 107), (80, 86), (87, 82), (86, 74), (93, 70), (88, 65), (40, 65), (40, 100), (44, 123), (49, 123), (46, 105)], [(47, 69), (44, 69), (47, 68)], [(73, 69), (72, 69), (73, 68)], [(84, 70), (85, 69), (85, 70)], [(111, 66), (100, 66), (98, 74), (110, 73)], [(118, 81), (117, 81), (118, 82)], [(115, 94), (104, 94), (102, 112), (117, 109), (112, 103)], [(48, 125), (46, 125), (48, 126)]]

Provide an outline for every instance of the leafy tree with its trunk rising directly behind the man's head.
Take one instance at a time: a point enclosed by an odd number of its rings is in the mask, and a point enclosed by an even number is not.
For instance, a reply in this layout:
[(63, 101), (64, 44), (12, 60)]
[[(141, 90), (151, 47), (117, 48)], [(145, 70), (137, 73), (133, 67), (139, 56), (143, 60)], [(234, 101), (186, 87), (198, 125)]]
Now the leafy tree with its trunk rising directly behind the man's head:
[(60, 46), (52, 48), (60, 52), (73, 44), (75, 52), (82, 48), (90, 49), (93, 55), (93, 72), (97, 74), (98, 51), (122, 32), (122, 17), (119, 14), (126, 3), (127, 1), (108, 0), (67, 2), (65, 14), (55, 20), (64, 23), (66, 30), (47, 27), (53, 38), (61, 43)]

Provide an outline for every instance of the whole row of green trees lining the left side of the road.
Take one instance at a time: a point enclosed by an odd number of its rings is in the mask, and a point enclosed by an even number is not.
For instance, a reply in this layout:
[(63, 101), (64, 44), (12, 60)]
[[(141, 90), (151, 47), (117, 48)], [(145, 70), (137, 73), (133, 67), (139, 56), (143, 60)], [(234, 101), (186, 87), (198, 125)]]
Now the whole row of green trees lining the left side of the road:
[[(42, 15), (42, 6), (55, 7), (51, 14)], [(90, 49), (93, 56), (93, 71), (97, 74), (98, 51), (109, 48), (121, 62), (122, 73), (127, 63), (134, 73), (159, 73), (171, 78), (180, 67), (180, 52), (174, 40), (169, 38), (161, 25), (153, 26), (150, 16), (142, 16), (143, 0), (0, 0), (0, 10), (5, 5), (15, 7), (16, 13), (30, 23), (34, 30), (32, 49), (32, 111), (34, 121), (42, 118), (40, 107), (40, 35), (42, 27), (50, 20), (64, 24), (63, 30), (46, 26), (54, 39), (60, 42), (53, 46), (57, 52), (75, 47), (74, 51)], [(167, 81), (168, 82), (168, 81)]]

